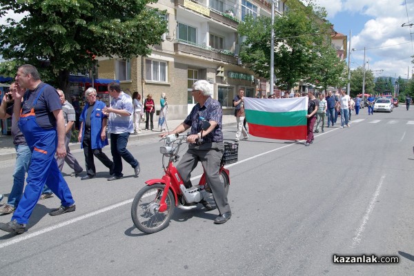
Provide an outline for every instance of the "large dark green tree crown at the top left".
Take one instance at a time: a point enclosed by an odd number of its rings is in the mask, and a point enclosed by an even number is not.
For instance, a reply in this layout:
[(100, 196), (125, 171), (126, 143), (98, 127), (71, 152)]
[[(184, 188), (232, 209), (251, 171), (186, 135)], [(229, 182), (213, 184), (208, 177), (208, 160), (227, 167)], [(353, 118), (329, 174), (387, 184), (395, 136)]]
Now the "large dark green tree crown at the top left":
[(0, 0), (7, 10), (27, 14), (0, 26), (0, 74), (13, 76), (16, 66), (36, 66), (43, 81), (66, 90), (70, 72), (95, 65), (95, 56), (128, 59), (149, 55), (161, 43), (166, 21), (149, 3), (157, 0)]

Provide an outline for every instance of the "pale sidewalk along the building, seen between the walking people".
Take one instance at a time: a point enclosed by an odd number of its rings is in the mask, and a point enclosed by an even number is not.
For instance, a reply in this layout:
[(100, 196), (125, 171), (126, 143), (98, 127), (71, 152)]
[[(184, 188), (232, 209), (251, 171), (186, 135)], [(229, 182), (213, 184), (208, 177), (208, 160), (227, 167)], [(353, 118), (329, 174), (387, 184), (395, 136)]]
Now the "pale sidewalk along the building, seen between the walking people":
[[(184, 121), (182, 120), (169, 120), (167, 121), (168, 129), (173, 130), (176, 128), (179, 124), (181, 124)], [(157, 124), (158, 121), (154, 120), (155, 124), (155, 130), (157, 130)], [(233, 115), (224, 115), (222, 126), (236, 126), (236, 119)], [(141, 128), (145, 128), (145, 123), (141, 123)], [(137, 135), (130, 135), (129, 141), (135, 141), (138, 139), (149, 139), (153, 137), (158, 137), (159, 131), (151, 131), (151, 130), (142, 130), (141, 133), (138, 133)], [(80, 143), (70, 143), (69, 144), (70, 150), (78, 150), (81, 148)], [(13, 139), (11, 135), (0, 135), (0, 161), (3, 160), (10, 160), (10, 159), (16, 159), (16, 150), (14, 149)]]

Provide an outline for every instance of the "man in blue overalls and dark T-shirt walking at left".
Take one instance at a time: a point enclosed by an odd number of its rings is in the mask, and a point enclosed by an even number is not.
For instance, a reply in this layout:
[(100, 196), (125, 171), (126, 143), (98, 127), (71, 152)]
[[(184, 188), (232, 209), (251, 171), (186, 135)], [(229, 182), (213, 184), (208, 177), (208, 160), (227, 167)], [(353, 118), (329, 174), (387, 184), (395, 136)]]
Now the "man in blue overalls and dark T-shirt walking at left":
[(37, 69), (29, 64), (19, 67), (15, 80), (17, 85), (12, 91), (14, 117), (19, 119), (19, 128), (26, 138), (32, 158), (23, 198), (11, 221), (7, 224), (0, 223), (0, 229), (21, 234), (26, 230), (26, 224), (45, 184), (61, 199), (61, 206), (49, 215), (73, 212), (76, 207), (55, 159), (55, 153), (59, 158), (66, 156), (65, 121), (59, 94), (55, 88), (43, 83)]

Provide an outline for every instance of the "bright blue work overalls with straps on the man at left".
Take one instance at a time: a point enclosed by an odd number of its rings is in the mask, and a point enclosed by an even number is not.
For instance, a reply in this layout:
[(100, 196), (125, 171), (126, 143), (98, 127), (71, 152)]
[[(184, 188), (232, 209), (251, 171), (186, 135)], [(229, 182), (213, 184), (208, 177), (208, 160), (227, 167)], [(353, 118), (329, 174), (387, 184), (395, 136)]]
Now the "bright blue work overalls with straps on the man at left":
[(57, 168), (57, 161), (55, 159), (57, 129), (41, 128), (37, 124), (36, 115), (34, 114), (34, 106), (36, 106), (37, 100), (47, 86), (48, 84), (39, 91), (30, 107), (30, 113), (21, 114), (19, 119), (19, 128), (23, 132), (26, 143), (32, 152), (28, 178), (26, 179), (27, 185), (19, 206), (17, 206), (12, 217), (12, 220), (16, 219), (19, 224), (28, 223), (32, 210), (36, 206), (45, 184), (61, 199), (62, 206), (71, 206), (75, 203), (68, 184), (63, 179), (59, 168)]

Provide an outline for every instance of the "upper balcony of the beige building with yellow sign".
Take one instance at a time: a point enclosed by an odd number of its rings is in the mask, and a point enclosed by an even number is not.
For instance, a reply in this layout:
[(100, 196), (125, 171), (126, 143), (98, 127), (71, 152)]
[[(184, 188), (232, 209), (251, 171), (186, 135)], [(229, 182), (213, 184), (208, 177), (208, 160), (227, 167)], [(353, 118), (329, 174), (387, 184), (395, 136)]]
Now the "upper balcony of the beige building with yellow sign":
[(234, 28), (235, 30), (237, 30), (237, 26), (239, 26), (239, 20), (235, 17), (232, 17), (225, 12), (219, 12), (218, 10), (207, 7), (198, 1), (175, 0), (175, 7), (182, 10), (191, 10), (201, 16), (213, 19), (213, 21), (223, 23), (224, 25)]

